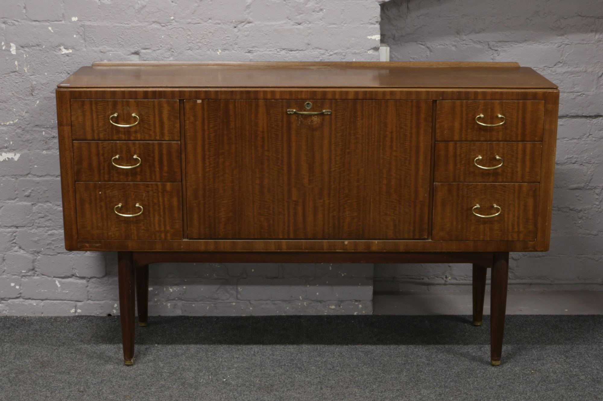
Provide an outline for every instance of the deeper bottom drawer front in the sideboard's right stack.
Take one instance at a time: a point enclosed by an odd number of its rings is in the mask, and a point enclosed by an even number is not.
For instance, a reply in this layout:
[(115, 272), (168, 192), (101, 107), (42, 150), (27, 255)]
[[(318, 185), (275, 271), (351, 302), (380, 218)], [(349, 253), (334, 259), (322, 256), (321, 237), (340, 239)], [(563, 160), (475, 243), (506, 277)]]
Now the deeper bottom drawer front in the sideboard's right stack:
[[(535, 241), (538, 184), (434, 185), (435, 241)], [(474, 207), (479, 204), (479, 208)], [(496, 204), (500, 209), (493, 207)], [(480, 217), (479, 215), (494, 215)]]

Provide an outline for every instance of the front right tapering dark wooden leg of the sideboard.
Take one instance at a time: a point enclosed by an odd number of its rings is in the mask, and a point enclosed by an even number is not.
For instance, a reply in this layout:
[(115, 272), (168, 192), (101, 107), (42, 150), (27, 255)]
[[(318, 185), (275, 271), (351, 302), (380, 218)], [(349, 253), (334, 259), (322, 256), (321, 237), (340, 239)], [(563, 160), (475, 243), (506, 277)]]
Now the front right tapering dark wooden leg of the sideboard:
[(502, 335), (507, 312), (507, 284), (509, 281), (509, 253), (494, 252), (490, 299), (490, 352), (491, 363), (500, 365)]

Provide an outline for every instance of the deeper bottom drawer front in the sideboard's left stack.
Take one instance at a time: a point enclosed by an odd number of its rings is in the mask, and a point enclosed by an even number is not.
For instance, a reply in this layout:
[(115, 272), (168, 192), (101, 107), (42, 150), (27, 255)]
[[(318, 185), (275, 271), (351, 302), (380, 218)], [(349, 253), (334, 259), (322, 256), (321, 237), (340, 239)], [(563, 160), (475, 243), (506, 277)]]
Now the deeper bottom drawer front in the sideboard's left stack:
[(179, 183), (75, 183), (75, 198), (78, 239), (182, 239)]

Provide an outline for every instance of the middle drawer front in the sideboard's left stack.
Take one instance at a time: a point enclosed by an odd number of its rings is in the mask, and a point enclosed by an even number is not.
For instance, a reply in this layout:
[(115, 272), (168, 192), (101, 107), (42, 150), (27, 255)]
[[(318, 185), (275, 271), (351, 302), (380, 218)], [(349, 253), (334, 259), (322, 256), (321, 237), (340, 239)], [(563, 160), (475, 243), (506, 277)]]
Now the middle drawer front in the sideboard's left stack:
[(74, 169), (76, 181), (179, 182), (180, 142), (75, 141)]

